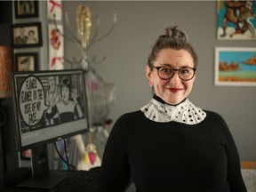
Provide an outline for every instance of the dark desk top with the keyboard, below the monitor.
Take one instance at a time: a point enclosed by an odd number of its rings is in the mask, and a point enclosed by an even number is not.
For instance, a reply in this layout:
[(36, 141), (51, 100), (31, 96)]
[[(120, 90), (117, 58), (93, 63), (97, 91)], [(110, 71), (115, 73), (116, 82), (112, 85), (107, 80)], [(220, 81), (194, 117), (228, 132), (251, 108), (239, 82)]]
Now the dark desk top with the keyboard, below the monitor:
[[(90, 192), (100, 173), (100, 167), (92, 168), (90, 171), (51, 171), (48, 178), (34, 180), (28, 177), (17, 185), (6, 184), (4, 179), (0, 181), (0, 191), (6, 192)], [(80, 179), (78, 179), (78, 177)], [(79, 189), (80, 188), (80, 189)]]

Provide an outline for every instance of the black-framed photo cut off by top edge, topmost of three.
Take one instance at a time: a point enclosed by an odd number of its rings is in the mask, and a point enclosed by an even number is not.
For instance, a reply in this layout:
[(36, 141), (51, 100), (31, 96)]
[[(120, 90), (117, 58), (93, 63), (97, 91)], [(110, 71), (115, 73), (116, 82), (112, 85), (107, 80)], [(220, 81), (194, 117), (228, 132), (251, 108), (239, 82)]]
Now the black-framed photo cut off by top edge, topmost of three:
[(16, 19), (38, 17), (38, 0), (16, 0), (13, 3)]

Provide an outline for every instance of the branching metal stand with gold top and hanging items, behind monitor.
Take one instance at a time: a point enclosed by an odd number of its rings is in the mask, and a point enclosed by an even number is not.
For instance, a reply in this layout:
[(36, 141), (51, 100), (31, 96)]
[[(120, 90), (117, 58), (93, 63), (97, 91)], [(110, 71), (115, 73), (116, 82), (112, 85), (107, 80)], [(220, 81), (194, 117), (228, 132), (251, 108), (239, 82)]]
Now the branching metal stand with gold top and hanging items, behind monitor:
[(76, 164), (77, 170), (89, 170), (101, 164), (100, 157), (108, 139), (107, 127), (111, 123), (108, 113), (116, 100), (115, 85), (105, 82), (95, 69), (95, 65), (103, 62), (106, 57), (98, 62), (95, 56), (91, 60), (89, 49), (92, 44), (99, 42), (113, 31), (116, 26), (116, 12), (112, 27), (106, 35), (101, 37), (98, 37), (99, 18), (96, 20), (95, 33), (91, 37), (92, 13), (84, 4), (78, 5), (76, 9), (76, 33), (70, 28), (68, 12), (65, 12), (65, 20), (71, 36), (63, 36), (76, 44), (81, 53), (81, 58), (78, 60), (74, 57), (72, 60), (67, 58), (65, 60), (73, 68), (84, 69), (89, 117), (89, 132), (84, 135), (76, 135), (68, 140), (68, 157), (69, 163)]

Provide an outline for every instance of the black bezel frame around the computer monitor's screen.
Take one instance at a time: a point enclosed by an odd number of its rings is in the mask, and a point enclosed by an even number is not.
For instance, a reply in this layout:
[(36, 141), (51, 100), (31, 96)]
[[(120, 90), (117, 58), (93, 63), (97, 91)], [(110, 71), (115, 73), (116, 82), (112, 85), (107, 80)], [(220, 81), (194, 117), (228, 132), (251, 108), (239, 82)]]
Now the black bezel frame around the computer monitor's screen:
[[(26, 145), (22, 144), (22, 136), (20, 133), (20, 87), (17, 85), (17, 78), (24, 78), (23, 81), (25, 81), (30, 76), (36, 76), (36, 78), (44, 76), (70, 76), (70, 75), (79, 75), (82, 78), (83, 84), (81, 84), (81, 87), (84, 86), (84, 89), (82, 88), (80, 93), (83, 93), (84, 95), (84, 116), (81, 119), (78, 119), (74, 122), (71, 122), (71, 124), (75, 125), (78, 121), (84, 122), (84, 127), (79, 130), (73, 130), (66, 133), (60, 133), (57, 136), (54, 136), (52, 138), (48, 138), (47, 140), (40, 140), (33, 143), (29, 143)], [(87, 100), (86, 100), (86, 91), (85, 91), (85, 82), (84, 82), (84, 70), (82, 69), (64, 69), (64, 70), (44, 70), (44, 71), (27, 71), (27, 72), (12, 72), (12, 108), (13, 108), (13, 116), (14, 116), (14, 130), (15, 130), (15, 147), (17, 151), (24, 151), (31, 148), (37, 148), (43, 145), (50, 144), (57, 140), (63, 140), (72, 136), (75, 136), (76, 134), (85, 133), (89, 130), (89, 122), (88, 122), (88, 108), (87, 108)], [(40, 78), (39, 78), (40, 79)], [(21, 80), (20, 80), (21, 81)], [(41, 82), (42, 83), (42, 82)], [(61, 126), (56, 125), (56, 126)], [(73, 127), (73, 126), (70, 126)]]

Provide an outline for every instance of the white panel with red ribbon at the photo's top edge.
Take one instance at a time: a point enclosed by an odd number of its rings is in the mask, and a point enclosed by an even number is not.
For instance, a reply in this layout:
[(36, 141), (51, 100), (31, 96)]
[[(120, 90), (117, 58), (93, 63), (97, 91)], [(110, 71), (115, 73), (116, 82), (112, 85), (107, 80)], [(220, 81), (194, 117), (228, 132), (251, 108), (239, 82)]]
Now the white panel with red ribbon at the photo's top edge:
[(48, 20), (62, 20), (62, 1), (47, 0), (47, 16)]

